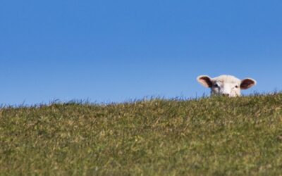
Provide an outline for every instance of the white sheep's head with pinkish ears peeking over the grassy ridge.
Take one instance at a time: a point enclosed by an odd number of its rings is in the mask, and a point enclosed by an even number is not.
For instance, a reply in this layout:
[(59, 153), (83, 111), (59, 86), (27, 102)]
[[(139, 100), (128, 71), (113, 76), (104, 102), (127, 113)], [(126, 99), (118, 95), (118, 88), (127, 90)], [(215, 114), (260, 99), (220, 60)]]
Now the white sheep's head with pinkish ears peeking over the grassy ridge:
[(232, 75), (221, 75), (211, 78), (207, 75), (200, 75), (197, 81), (204, 87), (211, 89), (212, 95), (223, 95), (229, 97), (241, 96), (241, 90), (249, 89), (257, 84), (252, 78), (239, 80)]

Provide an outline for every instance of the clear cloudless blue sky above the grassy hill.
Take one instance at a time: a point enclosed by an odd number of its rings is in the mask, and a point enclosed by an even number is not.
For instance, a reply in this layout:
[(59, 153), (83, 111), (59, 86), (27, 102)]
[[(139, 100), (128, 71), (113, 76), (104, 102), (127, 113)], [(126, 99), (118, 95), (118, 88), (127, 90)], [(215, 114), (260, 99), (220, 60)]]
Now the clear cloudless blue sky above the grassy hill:
[(281, 0), (0, 2), (0, 103), (209, 94), (198, 75), (282, 90)]

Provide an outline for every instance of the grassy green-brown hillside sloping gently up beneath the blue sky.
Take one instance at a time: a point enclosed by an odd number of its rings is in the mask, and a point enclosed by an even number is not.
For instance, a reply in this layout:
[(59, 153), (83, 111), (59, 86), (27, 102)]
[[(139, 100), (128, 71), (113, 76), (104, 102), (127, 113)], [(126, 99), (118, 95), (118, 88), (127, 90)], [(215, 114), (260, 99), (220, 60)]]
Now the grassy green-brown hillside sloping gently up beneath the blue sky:
[(0, 175), (282, 175), (282, 94), (1, 108)]

